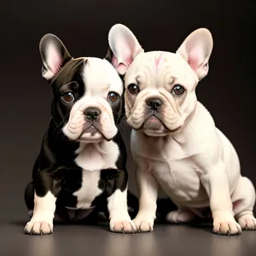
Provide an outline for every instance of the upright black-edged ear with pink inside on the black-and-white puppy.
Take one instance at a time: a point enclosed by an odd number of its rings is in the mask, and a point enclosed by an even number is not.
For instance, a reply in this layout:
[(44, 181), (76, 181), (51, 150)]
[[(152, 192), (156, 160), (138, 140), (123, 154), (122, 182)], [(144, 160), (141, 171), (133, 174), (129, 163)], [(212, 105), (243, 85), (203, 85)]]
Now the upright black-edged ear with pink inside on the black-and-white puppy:
[(43, 61), (42, 76), (46, 80), (51, 80), (71, 59), (66, 47), (53, 34), (46, 34), (41, 39), (39, 51)]

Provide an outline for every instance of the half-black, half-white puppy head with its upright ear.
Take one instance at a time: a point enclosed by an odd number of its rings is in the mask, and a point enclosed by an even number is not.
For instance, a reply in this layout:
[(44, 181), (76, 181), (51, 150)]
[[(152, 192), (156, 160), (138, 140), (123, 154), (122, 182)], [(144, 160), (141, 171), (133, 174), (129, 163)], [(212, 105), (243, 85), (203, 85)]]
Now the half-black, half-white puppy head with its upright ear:
[(53, 34), (41, 39), (39, 50), (43, 77), (54, 94), (56, 125), (72, 141), (111, 140), (124, 113), (124, 85), (111, 63), (95, 57), (74, 59)]

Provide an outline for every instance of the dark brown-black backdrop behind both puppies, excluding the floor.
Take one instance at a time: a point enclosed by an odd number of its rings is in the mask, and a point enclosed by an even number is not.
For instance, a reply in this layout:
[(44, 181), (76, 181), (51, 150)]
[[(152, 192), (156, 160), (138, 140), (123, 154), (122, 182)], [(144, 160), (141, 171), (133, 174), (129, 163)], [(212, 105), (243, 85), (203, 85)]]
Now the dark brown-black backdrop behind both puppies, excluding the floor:
[[(23, 193), (49, 125), (49, 85), (41, 78), (38, 43), (55, 33), (74, 57), (104, 57), (108, 30), (130, 27), (145, 50), (175, 51), (201, 26), (214, 48), (198, 99), (235, 145), (241, 171), (256, 184), (255, 47), (253, 8), (234, 1), (2, 1), (1, 26), (1, 220), (26, 218)], [(251, 1), (253, 2), (253, 1)], [(130, 130), (125, 141), (130, 151)], [(135, 191), (129, 157), (130, 187)], [(6, 210), (5, 210), (6, 209)]]

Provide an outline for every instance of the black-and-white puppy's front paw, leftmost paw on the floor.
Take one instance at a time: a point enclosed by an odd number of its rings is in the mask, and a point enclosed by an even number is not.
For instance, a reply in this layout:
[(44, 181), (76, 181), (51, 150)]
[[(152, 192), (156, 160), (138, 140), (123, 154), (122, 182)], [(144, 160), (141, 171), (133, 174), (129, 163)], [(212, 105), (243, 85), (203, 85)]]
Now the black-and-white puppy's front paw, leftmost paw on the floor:
[(46, 221), (30, 221), (26, 224), (26, 235), (49, 235), (53, 232), (53, 224)]

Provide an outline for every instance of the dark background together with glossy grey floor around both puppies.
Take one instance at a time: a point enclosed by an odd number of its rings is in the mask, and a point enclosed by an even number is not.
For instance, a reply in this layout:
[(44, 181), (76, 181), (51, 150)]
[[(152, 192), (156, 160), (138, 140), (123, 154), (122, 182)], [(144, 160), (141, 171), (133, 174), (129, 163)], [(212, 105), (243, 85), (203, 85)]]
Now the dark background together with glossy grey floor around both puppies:
[[(2, 1), (0, 253), (19, 255), (253, 255), (256, 232), (239, 237), (211, 234), (211, 228), (156, 226), (152, 234), (121, 236), (101, 227), (56, 226), (54, 236), (22, 234), (26, 223), (23, 193), (49, 124), (51, 90), (41, 78), (38, 43), (55, 33), (74, 57), (105, 56), (108, 30), (130, 27), (145, 50), (175, 51), (201, 26), (212, 32), (214, 48), (199, 100), (235, 145), (241, 172), (256, 184), (255, 44), (253, 1)], [(129, 129), (125, 130), (129, 149)], [(130, 188), (133, 162), (128, 161)], [(123, 251), (121, 251), (121, 249)], [(44, 250), (49, 250), (44, 254)], [(163, 250), (163, 251), (161, 251)], [(3, 253), (2, 253), (3, 252)], [(5, 252), (5, 253), (4, 253)], [(70, 252), (70, 253), (69, 253)], [(166, 252), (166, 253), (165, 253)]]

